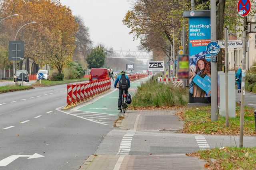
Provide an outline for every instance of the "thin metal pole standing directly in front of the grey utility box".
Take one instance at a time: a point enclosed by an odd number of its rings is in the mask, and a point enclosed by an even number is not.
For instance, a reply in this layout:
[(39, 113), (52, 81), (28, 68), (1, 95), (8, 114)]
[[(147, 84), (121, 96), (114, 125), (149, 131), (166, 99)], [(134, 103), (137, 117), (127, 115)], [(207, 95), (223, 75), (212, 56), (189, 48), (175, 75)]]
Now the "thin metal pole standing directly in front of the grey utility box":
[(228, 28), (224, 28), (225, 35), (225, 115), (228, 127)]

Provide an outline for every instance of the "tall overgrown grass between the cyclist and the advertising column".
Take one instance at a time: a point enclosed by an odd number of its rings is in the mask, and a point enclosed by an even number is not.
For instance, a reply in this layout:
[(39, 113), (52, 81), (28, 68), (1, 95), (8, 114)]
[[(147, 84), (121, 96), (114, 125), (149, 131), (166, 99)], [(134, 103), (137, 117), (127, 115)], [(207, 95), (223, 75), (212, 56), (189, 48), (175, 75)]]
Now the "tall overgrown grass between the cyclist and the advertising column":
[(131, 107), (172, 107), (188, 103), (188, 89), (153, 81), (142, 83), (132, 97)]

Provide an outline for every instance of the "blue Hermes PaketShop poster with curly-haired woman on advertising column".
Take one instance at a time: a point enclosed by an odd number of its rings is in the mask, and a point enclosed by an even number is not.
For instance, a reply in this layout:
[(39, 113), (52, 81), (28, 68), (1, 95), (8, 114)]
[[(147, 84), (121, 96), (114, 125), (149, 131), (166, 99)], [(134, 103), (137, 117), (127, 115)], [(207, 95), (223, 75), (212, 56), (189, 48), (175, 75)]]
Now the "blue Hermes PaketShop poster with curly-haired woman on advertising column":
[(206, 51), (206, 46), (210, 41), (210, 17), (190, 17), (189, 103), (211, 103), (211, 63)]

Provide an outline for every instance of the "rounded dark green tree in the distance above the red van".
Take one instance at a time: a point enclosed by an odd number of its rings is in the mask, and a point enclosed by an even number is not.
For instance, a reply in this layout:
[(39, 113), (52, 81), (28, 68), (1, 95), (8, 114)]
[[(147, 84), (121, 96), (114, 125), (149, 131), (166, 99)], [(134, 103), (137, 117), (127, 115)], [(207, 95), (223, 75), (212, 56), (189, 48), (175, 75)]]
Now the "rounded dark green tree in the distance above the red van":
[(86, 61), (88, 68), (100, 68), (104, 65), (106, 53), (104, 47), (97, 46), (92, 49), (91, 53), (87, 56)]

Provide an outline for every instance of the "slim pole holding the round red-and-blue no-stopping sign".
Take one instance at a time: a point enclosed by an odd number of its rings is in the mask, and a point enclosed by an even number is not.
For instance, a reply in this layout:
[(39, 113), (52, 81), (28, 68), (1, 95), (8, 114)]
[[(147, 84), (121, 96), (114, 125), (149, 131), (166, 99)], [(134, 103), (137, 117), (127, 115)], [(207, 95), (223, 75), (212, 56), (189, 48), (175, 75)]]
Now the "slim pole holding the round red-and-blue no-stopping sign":
[(245, 82), (245, 72), (246, 72), (246, 42), (247, 36), (247, 17), (244, 17), (244, 31), (243, 31), (243, 55), (242, 55), (242, 83), (241, 83), (241, 104), (240, 104), (240, 136), (239, 136), (239, 147), (243, 147), (244, 141), (244, 82)]

